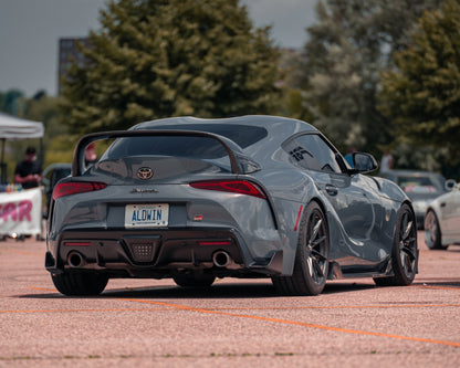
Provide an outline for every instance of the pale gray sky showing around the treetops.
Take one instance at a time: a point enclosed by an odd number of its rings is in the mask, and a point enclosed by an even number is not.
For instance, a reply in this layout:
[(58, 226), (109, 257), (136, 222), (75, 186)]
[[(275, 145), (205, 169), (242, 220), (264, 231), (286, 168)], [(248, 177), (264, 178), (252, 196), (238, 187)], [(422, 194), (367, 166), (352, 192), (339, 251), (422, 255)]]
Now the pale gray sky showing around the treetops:
[[(276, 45), (302, 48), (317, 0), (241, 0), (255, 27), (272, 27)], [(0, 0), (0, 92), (56, 95), (60, 38), (100, 29), (106, 0)]]

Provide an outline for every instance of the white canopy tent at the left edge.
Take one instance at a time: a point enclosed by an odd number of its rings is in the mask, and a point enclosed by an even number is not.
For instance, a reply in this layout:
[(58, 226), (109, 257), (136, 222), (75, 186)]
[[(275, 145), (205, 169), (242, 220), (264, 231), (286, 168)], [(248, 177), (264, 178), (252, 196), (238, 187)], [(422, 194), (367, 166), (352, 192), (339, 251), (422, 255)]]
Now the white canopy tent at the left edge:
[(15, 116), (0, 113), (0, 139), (1, 147), (1, 181), (6, 180), (4, 143), (7, 139), (42, 138), (44, 134), (43, 123), (22, 119)]

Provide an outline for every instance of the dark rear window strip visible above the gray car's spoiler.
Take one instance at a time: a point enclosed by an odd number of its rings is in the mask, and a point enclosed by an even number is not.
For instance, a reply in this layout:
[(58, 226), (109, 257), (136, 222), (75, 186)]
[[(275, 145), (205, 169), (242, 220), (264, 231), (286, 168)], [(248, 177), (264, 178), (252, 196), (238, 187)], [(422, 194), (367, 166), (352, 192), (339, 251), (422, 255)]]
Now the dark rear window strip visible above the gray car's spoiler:
[(263, 127), (241, 124), (181, 124), (176, 126), (149, 126), (146, 127), (146, 129), (196, 130), (213, 133), (233, 140), (241, 148), (247, 148), (268, 136), (268, 132)]

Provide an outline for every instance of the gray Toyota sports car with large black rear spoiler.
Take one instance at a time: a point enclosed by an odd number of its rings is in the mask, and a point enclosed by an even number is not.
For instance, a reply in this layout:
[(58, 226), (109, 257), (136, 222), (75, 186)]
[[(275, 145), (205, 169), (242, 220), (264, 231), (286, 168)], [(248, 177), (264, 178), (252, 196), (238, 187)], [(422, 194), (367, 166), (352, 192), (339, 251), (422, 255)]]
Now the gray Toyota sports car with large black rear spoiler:
[[(85, 147), (107, 140), (85, 168)], [(53, 191), (45, 266), (65, 295), (112, 277), (271, 277), (289, 295), (326, 280), (408, 285), (417, 273), (414, 209), (394, 182), (353, 168), (313, 126), (275, 116), (174, 117), (79, 141)]]

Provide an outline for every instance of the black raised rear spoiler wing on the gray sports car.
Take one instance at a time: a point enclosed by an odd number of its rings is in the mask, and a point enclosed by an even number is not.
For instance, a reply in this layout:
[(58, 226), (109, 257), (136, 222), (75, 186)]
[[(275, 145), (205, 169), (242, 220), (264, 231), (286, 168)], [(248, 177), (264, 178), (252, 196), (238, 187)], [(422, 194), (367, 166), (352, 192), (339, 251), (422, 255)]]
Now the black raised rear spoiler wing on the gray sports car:
[(227, 150), (230, 158), (232, 174), (251, 174), (260, 170), (259, 164), (245, 156), (241, 147), (234, 141), (217, 134), (196, 132), (196, 130), (113, 130), (92, 133), (83, 136), (75, 146), (72, 161), (72, 176), (80, 176), (84, 170), (84, 157), (86, 146), (101, 139), (128, 138), (128, 137), (148, 137), (148, 136), (180, 136), (180, 137), (206, 137), (218, 140)]

